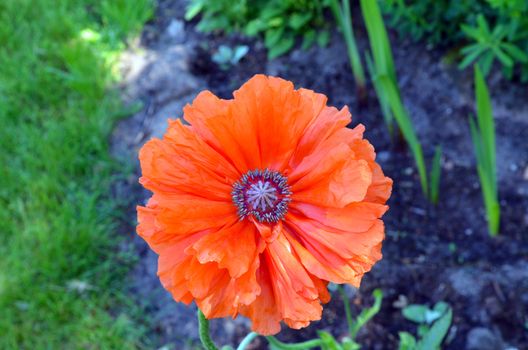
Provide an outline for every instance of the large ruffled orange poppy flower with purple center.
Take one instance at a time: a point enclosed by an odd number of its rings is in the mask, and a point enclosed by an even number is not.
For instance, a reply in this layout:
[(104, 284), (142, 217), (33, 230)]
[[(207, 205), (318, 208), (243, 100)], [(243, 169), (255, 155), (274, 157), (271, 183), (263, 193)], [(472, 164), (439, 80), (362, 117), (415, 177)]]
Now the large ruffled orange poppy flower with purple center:
[(263, 335), (321, 318), (329, 282), (359, 286), (381, 259), (392, 180), (347, 107), (256, 75), (209, 91), (139, 153), (138, 234), (178, 302), (251, 319)]

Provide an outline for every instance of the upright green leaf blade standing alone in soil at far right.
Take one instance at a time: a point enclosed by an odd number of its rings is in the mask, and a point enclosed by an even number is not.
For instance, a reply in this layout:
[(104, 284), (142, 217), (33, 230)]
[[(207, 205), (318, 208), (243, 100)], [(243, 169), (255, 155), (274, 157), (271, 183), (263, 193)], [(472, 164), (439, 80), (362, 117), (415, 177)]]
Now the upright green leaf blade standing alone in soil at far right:
[(497, 165), (495, 152), (495, 123), (493, 108), (486, 81), (478, 66), (475, 66), (475, 95), (477, 117), (469, 119), (471, 138), (477, 157), (477, 171), (486, 207), (488, 229), (492, 236), (499, 233), (500, 205), (497, 189)]

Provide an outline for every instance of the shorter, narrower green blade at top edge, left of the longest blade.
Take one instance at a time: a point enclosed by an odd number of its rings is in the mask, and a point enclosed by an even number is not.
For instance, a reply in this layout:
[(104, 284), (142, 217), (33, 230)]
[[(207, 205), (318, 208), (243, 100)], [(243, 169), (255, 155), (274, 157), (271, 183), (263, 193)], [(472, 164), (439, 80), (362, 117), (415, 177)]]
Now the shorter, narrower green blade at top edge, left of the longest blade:
[(361, 63), (361, 56), (357, 49), (354, 29), (352, 27), (350, 0), (342, 0), (341, 5), (339, 5), (337, 0), (330, 0), (330, 8), (332, 9), (334, 18), (339, 25), (343, 37), (345, 38), (350, 67), (352, 68), (352, 73), (354, 74), (358, 90), (360, 91), (360, 96), (365, 95), (365, 72), (363, 70), (363, 64)]

